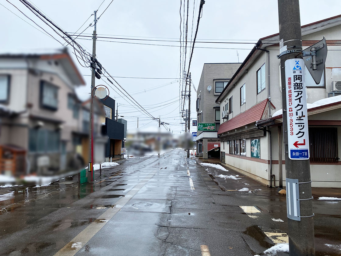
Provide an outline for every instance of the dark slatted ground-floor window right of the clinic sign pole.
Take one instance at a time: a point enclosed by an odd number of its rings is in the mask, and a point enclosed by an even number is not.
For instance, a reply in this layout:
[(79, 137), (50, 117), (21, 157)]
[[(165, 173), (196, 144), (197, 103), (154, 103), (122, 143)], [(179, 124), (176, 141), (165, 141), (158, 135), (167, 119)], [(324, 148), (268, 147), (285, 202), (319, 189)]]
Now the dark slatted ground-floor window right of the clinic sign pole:
[(338, 133), (337, 128), (309, 127), (310, 162), (337, 163)]

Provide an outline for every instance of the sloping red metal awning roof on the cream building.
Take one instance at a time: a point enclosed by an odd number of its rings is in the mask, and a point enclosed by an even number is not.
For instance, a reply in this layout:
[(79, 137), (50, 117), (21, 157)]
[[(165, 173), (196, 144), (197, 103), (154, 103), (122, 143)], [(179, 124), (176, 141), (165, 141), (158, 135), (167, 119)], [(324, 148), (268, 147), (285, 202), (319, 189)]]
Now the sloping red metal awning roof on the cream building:
[[(264, 110), (269, 99), (263, 100), (262, 102), (254, 105), (247, 111), (236, 115), (235, 117), (229, 119), (228, 121), (222, 123), (219, 127), (218, 134), (226, 131), (233, 130), (235, 128), (248, 125), (260, 120), (263, 116)], [(272, 105), (273, 106), (273, 105)]]

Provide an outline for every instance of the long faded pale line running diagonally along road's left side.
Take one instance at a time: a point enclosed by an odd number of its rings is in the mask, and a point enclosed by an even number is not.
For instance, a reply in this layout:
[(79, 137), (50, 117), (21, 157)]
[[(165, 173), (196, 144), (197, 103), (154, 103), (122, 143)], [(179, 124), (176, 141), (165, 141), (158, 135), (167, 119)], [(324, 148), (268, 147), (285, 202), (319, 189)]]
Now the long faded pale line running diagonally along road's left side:
[(74, 256), (154, 175), (155, 172), (145, 176), (140, 183), (116, 202), (115, 208), (106, 210), (101, 216), (95, 219), (94, 222), (61, 248), (54, 256)]

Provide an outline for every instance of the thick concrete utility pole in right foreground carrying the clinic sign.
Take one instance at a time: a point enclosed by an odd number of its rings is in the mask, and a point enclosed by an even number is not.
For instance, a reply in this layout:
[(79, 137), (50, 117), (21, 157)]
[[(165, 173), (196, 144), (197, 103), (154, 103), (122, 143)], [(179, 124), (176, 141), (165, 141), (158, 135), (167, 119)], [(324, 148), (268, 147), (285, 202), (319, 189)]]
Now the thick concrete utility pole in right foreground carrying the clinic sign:
[(278, 0), (278, 14), (289, 255), (313, 256), (314, 214), (299, 0)]

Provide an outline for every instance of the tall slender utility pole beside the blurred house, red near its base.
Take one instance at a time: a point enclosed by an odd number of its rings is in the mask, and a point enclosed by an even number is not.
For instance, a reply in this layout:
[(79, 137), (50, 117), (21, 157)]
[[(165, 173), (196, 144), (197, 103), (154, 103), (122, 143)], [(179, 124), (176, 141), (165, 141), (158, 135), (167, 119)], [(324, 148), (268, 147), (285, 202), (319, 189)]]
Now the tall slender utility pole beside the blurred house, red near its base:
[[(94, 18), (94, 30), (92, 34), (92, 65), (91, 65), (91, 100), (90, 100), (90, 124), (89, 124), (89, 166), (88, 171), (91, 172), (91, 181), (93, 181), (93, 134), (92, 134), (92, 112), (93, 112), (93, 98), (94, 98), (94, 88), (95, 88), (95, 72), (96, 65), (94, 59), (96, 58), (96, 27), (97, 27), (97, 11), (95, 11)], [(89, 180), (89, 179), (88, 179)]]

